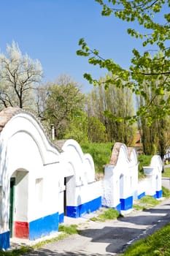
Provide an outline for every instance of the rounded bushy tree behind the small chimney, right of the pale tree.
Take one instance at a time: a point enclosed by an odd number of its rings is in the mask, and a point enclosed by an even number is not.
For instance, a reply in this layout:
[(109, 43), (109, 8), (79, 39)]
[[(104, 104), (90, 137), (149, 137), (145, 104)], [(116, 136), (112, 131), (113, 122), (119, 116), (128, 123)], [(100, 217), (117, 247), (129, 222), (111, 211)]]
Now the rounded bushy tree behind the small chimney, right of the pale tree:
[[(48, 124), (54, 124), (55, 136), (57, 139), (61, 139), (72, 119), (80, 115), (84, 95), (80, 92), (78, 84), (67, 75), (62, 75), (55, 83), (48, 84), (44, 89), (46, 94), (42, 93), (42, 96), (45, 99), (45, 104), (41, 105), (40, 116)], [(39, 99), (39, 102), (42, 101)]]

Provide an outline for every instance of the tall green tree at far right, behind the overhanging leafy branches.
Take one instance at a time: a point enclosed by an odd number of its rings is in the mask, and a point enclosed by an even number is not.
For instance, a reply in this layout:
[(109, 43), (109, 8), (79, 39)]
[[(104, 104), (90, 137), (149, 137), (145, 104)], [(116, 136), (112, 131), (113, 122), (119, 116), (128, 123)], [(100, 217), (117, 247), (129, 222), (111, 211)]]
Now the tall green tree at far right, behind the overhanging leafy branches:
[[(145, 86), (144, 86), (144, 83)], [(153, 97), (152, 93), (155, 89), (160, 89), (159, 84), (162, 84), (161, 80), (155, 79), (155, 77), (150, 77), (150, 80), (143, 80), (143, 89), (147, 97), (141, 97), (139, 99), (139, 108), (143, 108), (146, 105), (146, 100), (152, 99), (154, 105), (159, 108), (162, 101), (166, 101), (169, 97), (169, 91), (165, 90), (163, 95), (159, 97)], [(152, 90), (154, 87), (154, 90)], [(146, 98), (146, 99), (145, 99)], [(156, 154), (159, 152), (162, 159), (166, 153), (166, 148), (169, 146), (169, 116), (162, 116), (162, 118), (152, 120), (150, 125), (148, 125), (148, 119), (140, 118), (140, 129), (142, 131), (142, 143), (145, 154)]]

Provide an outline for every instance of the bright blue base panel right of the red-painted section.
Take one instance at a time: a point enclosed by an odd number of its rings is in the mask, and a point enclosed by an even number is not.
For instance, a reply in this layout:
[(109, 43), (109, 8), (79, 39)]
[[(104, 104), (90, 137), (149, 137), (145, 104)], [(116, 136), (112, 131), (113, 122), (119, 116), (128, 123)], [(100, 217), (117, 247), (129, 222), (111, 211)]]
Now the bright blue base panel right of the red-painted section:
[(53, 231), (58, 231), (58, 213), (36, 219), (29, 223), (29, 239), (35, 240), (47, 236)]

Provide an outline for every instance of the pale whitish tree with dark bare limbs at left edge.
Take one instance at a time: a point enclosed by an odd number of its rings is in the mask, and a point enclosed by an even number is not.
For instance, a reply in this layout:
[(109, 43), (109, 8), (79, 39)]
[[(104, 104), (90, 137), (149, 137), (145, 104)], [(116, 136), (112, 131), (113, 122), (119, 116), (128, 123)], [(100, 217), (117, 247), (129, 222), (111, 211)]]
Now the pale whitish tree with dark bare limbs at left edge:
[(34, 90), (42, 79), (38, 60), (22, 55), (16, 42), (7, 45), (7, 54), (0, 54), (0, 105), (5, 108), (30, 107), (34, 104)]

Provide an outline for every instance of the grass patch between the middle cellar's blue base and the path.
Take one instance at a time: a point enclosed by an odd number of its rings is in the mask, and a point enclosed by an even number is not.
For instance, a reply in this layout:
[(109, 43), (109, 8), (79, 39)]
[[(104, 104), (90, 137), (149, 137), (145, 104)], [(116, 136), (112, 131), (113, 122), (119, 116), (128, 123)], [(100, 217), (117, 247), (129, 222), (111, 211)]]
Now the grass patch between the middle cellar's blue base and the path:
[(99, 214), (98, 217), (93, 217), (90, 220), (93, 220), (93, 222), (105, 222), (107, 219), (117, 219), (118, 217), (122, 217), (122, 215), (117, 210), (109, 208), (103, 214)]

